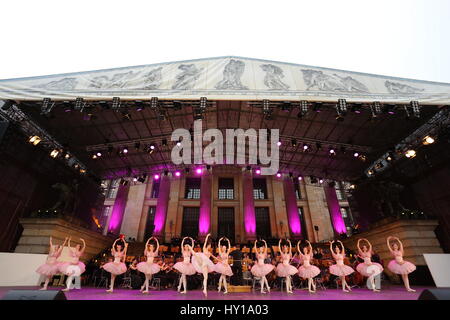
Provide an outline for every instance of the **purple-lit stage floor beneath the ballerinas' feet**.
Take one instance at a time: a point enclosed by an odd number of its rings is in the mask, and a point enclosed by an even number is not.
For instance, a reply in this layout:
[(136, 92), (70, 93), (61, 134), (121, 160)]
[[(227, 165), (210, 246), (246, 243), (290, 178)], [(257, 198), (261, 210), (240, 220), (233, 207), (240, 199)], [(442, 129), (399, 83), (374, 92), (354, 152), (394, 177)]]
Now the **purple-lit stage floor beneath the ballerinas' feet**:
[[(0, 287), (0, 299), (8, 290), (30, 290), (37, 287)], [(208, 291), (208, 297), (203, 296), (202, 291), (188, 291), (180, 294), (174, 290), (150, 291), (142, 294), (138, 290), (116, 289), (114, 293), (107, 293), (105, 289), (86, 287), (81, 290), (66, 292), (68, 300), (417, 300), (425, 287), (415, 287), (414, 293), (406, 292), (402, 286), (389, 286), (381, 292), (371, 292), (367, 289), (353, 289), (350, 293), (344, 293), (337, 289), (318, 290), (310, 294), (307, 290), (295, 290), (293, 294), (280, 291), (272, 291), (268, 294), (254, 293), (229, 293), (223, 294), (217, 291)], [(52, 288), (51, 290), (55, 290)]]

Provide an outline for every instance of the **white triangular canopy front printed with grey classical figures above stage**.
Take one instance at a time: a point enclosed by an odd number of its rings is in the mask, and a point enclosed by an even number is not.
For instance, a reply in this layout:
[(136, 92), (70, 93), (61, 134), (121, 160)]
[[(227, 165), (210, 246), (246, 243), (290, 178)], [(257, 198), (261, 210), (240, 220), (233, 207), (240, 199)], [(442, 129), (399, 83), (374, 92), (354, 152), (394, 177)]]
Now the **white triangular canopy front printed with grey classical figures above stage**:
[(262, 100), (450, 104), (450, 84), (241, 57), (0, 80), (12, 100)]

